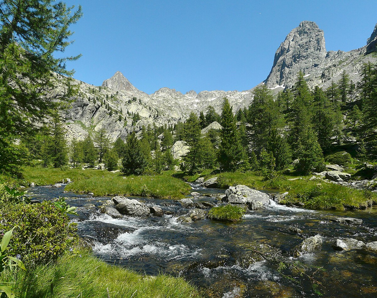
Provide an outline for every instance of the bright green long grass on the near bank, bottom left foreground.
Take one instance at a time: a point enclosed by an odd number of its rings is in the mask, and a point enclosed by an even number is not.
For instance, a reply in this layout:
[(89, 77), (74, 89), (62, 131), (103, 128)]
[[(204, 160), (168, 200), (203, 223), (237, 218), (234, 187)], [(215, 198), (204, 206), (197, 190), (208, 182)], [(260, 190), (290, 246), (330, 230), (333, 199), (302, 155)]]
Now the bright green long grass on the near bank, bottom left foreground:
[(9, 270), (0, 274), (2, 284), (10, 286), (16, 298), (201, 297), (183, 278), (138, 274), (84, 251), (67, 252), (54, 263), (27, 269), (26, 274)]

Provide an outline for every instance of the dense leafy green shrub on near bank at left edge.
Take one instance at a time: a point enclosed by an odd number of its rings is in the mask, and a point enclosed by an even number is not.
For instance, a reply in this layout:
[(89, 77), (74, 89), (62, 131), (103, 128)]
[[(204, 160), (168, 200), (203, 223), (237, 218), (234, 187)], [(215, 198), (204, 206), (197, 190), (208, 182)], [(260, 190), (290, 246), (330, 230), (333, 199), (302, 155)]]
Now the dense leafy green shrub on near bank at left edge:
[(13, 226), (9, 255), (21, 255), (27, 262), (41, 263), (56, 260), (77, 239), (76, 223), (70, 223), (65, 212), (53, 202), (36, 204), (2, 204), (0, 233)]

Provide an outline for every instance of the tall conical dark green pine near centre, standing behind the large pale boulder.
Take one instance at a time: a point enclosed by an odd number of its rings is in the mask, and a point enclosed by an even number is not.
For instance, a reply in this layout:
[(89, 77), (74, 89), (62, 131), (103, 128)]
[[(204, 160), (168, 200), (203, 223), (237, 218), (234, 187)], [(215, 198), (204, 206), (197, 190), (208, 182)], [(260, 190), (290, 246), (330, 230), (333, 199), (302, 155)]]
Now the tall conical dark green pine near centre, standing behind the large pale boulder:
[(219, 161), (225, 171), (235, 171), (247, 167), (247, 155), (241, 144), (232, 107), (225, 98), (221, 115), (221, 144)]

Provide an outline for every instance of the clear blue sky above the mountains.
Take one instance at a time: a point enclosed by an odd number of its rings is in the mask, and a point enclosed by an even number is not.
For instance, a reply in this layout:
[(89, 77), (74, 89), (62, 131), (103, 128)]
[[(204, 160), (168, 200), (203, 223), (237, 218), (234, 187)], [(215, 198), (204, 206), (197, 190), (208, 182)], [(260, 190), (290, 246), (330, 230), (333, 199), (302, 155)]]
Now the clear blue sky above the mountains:
[(139, 90), (248, 90), (271, 70), (274, 54), (300, 21), (315, 21), (327, 50), (366, 44), (377, 0), (67, 0), (84, 16), (67, 55), (75, 78), (99, 86), (117, 70)]

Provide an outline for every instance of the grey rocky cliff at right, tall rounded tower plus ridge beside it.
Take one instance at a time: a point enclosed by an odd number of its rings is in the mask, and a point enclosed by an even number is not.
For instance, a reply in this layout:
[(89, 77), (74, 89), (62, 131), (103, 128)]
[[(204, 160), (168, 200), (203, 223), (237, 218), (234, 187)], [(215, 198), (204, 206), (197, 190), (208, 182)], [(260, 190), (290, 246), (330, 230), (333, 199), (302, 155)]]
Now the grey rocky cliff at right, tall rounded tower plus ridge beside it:
[(364, 63), (375, 63), (377, 25), (366, 46), (349, 52), (326, 52), (323, 31), (316, 23), (303, 21), (287, 35), (275, 53), (273, 67), (265, 84), (274, 92), (292, 87), (301, 70), (310, 87), (328, 87), (332, 80), (339, 81), (345, 70), (350, 79), (360, 81)]

